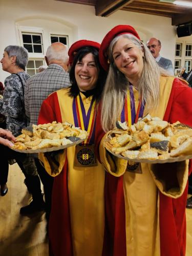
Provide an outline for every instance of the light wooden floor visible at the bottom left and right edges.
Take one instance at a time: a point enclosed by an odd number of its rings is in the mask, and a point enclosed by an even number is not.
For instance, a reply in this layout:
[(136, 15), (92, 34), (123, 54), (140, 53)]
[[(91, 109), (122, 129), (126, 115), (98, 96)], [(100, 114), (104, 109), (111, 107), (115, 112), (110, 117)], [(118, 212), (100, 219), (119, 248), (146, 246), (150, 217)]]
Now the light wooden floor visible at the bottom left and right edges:
[[(23, 217), (19, 214), (20, 207), (28, 204), (30, 195), (24, 184), (24, 175), (17, 164), (10, 166), (7, 185), (9, 188), (7, 195), (0, 196), (0, 255), (47, 256), (45, 213), (41, 212), (31, 217)], [(186, 256), (190, 256), (192, 255), (192, 209), (186, 209), (186, 218)]]

